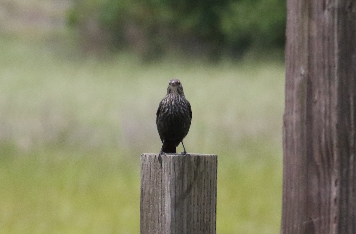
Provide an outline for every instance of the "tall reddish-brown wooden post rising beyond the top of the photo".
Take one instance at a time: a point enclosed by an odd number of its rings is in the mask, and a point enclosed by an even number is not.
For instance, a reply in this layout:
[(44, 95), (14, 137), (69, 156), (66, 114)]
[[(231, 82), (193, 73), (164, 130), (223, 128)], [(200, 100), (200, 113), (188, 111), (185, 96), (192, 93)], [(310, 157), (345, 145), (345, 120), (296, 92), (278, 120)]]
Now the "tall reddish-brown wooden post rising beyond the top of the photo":
[(356, 233), (356, 1), (287, 0), (281, 233)]

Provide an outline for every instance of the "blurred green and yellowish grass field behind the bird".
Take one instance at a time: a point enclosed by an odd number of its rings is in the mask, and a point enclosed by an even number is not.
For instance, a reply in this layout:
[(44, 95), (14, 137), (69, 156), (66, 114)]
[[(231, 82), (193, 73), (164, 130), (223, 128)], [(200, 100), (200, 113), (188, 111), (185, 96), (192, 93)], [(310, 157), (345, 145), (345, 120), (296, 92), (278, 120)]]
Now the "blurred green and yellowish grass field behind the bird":
[(282, 63), (144, 64), (12, 37), (0, 50), (0, 233), (138, 233), (139, 156), (161, 148), (173, 77), (192, 105), (185, 147), (219, 155), (217, 232), (279, 232)]

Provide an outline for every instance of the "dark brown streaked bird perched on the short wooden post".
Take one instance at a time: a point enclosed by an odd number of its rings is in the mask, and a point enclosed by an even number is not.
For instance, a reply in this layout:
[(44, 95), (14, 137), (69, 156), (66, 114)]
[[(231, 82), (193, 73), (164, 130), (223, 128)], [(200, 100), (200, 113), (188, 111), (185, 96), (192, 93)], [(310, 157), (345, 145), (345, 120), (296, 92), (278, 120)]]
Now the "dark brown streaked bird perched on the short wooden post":
[(183, 86), (180, 80), (172, 79), (168, 83), (167, 94), (159, 102), (156, 113), (156, 124), (162, 148), (158, 159), (162, 166), (162, 154), (177, 153), (179, 143), (183, 145), (182, 155), (187, 155), (183, 139), (188, 134), (192, 122), (192, 108), (185, 99)]

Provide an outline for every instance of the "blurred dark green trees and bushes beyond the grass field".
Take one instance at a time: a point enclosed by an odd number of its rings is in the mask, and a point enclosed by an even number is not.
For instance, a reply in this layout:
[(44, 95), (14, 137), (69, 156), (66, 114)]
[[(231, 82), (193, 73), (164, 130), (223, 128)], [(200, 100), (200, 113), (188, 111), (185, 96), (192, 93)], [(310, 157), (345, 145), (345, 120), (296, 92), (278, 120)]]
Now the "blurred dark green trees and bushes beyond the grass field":
[(283, 48), (285, 8), (285, 0), (74, 0), (67, 20), (88, 48), (219, 59)]

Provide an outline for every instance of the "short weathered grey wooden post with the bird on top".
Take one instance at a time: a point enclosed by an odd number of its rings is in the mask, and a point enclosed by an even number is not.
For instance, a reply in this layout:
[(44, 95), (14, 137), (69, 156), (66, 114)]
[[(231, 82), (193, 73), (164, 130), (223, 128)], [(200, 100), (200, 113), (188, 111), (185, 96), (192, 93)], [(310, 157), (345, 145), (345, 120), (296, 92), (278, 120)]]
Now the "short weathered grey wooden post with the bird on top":
[(215, 234), (217, 155), (141, 155), (141, 234)]

